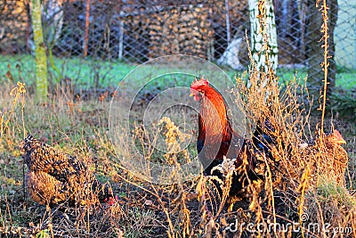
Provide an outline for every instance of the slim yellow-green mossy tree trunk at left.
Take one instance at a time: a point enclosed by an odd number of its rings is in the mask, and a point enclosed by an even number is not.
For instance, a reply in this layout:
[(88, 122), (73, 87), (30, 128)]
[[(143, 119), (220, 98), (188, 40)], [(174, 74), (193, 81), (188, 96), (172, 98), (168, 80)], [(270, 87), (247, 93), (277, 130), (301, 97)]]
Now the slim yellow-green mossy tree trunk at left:
[(48, 96), (48, 80), (40, 0), (32, 0), (32, 28), (36, 57), (36, 100), (44, 103)]

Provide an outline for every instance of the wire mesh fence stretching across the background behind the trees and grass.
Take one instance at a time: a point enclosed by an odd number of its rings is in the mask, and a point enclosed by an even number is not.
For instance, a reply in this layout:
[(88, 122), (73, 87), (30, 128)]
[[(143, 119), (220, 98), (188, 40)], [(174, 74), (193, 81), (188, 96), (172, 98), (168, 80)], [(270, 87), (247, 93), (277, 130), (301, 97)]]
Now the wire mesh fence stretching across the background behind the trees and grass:
[[(320, 26), (316, 25), (316, 19), (321, 16), (316, 15), (320, 12), (311, 11), (315, 1), (274, 0), (273, 3), (279, 67), (305, 70), (310, 78), (319, 79), (322, 59), (314, 57), (313, 51), (321, 45)], [(29, 4), (28, 0), (0, 0), (1, 54), (23, 57), (33, 52)], [(330, 1), (330, 4), (337, 2)], [(336, 45), (330, 48), (330, 53), (335, 53), (337, 69), (354, 72), (356, 5), (341, 0), (335, 9), (329, 13), (329, 28), (334, 34), (330, 38)], [(143, 0), (46, 0), (43, 25), (48, 53), (61, 59), (56, 67), (57, 76), (60, 79), (68, 76), (68, 62), (73, 59), (77, 59), (79, 68), (83, 64), (81, 60), (90, 60), (92, 69), (85, 69), (87, 75), (85, 70), (79, 75), (91, 78), (94, 86), (117, 77), (114, 70), (117, 62), (141, 63), (174, 53), (195, 55), (234, 70), (247, 69), (248, 65), (247, 0), (191, 0), (179, 4)], [(336, 73), (337, 69), (331, 71)], [(115, 71), (112, 75), (111, 70)]]

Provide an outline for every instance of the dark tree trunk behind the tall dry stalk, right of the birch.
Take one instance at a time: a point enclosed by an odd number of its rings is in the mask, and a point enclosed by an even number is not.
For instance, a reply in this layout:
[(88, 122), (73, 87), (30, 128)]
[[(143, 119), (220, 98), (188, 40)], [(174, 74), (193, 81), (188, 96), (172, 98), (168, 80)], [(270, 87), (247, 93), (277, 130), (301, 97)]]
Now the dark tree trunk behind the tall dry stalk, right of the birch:
[[(328, 0), (328, 90), (330, 95), (335, 88), (336, 78), (336, 62), (335, 62), (335, 43), (334, 43), (334, 29), (337, 21), (337, 0)], [(321, 63), (324, 61), (323, 41), (320, 41), (323, 33), (321, 30), (322, 15), (319, 8), (316, 7), (316, 0), (308, 0), (307, 27), (306, 27), (306, 57), (308, 62), (308, 80), (307, 86), (309, 94), (317, 99), (320, 97), (320, 90), (324, 83), (324, 71), (321, 68)]]

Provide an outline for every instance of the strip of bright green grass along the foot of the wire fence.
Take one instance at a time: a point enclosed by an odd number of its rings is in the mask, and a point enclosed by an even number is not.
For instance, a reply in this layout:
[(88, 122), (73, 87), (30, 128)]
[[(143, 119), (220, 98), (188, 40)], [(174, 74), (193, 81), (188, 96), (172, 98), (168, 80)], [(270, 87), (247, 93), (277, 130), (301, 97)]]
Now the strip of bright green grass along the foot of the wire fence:
[[(54, 58), (54, 66), (60, 72), (60, 75), (56, 70), (50, 67), (49, 79), (53, 83), (57, 83), (61, 78), (71, 78), (72, 83), (82, 88), (89, 87), (108, 87), (117, 86), (117, 84), (125, 78), (125, 76), (136, 68), (137, 65), (126, 62), (105, 62), (101, 60), (83, 59), (80, 57), (75, 58)], [(9, 68), (10, 67), (10, 68)], [(206, 75), (204, 69), (190, 69), (198, 68), (197, 66), (191, 67), (190, 65), (183, 65), (182, 67), (165, 68), (155, 65), (143, 65), (141, 71), (150, 77), (151, 75), (158, 76), (164, 75), (167, 70), (191, 72), (196, 75), (202, 74), (207, 78), (212, 78), (214, 75)], [(35, 82), (35, 59), (32, 55), (0, 55), (0, 78), (9, 78), (6, 76), (6, 72), (11, 69), (12, 78), (20, 78), (31, 86)], [(239, 76), (243, 72), (231, 70), (230, 68), (223, 67), (222, 69), (230, 78)], [(221, 73), (221, 72), (218, 72)], [(292, 70), (292, 69), (279, 69), (278, 76), (281, 81), (290, 80), (291, 78), (305, 78), (307, 76), (306, 69)], [(169, 84), (175, 86), (187, 86), (190, 85), (191, 77), (182, 77), (180, 75), (174, 75), (168, 79), (166, 77), (155, 78), (154, 85), (157, 87), (166, 86), (167, 81)], [(336, 87), (340, 87), (344, 90), (349, 90), (356, 87), (356, 70), (338, 68), (336, 74)], [(142, 78), (130, 78), (134, 79), (132, 83), (142, 82)], [(136, 81), (137, 80), (137, 81)]]

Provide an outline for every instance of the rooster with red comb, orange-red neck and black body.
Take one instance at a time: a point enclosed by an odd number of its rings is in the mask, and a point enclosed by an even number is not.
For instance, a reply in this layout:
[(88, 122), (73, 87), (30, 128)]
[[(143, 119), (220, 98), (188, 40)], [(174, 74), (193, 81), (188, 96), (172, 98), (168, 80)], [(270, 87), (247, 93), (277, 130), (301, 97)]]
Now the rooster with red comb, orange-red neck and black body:
[[(213, 168), (222, 164), (224, 158), (236, 159), (229, 193), (229, 196), (235, 196), (245, 186), (246, 174), (250, 180), (262, 177), (255, 173), (255, 152), (269, 151), (269, 144), (273, 140), (271, 136), (263, 134), (260, 126), (256, 127), (251, 141), (235, 132), (227, 115), (223, 95), (210, 86), (206, 79), (195, 80), (190, 86), (190, 95), (200, 103), (197, 150), (204, 172), (208, 176), (222, 178), (222, 173)], [(243, 166), (244, 157), (247, 158), (247, 173), (239, 169)]]

